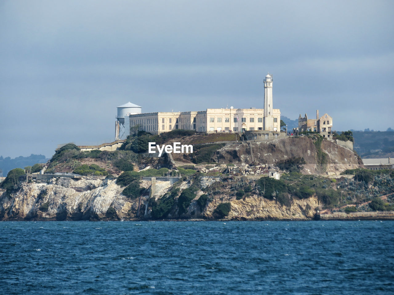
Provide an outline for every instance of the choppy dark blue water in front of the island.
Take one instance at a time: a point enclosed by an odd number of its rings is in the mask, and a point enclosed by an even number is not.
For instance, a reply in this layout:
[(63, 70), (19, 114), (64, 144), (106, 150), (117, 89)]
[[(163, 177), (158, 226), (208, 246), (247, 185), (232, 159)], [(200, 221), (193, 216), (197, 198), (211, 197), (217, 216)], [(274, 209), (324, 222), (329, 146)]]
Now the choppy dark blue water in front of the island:
[(394, 294), (394, 221), (0, 222), (0, 294)]

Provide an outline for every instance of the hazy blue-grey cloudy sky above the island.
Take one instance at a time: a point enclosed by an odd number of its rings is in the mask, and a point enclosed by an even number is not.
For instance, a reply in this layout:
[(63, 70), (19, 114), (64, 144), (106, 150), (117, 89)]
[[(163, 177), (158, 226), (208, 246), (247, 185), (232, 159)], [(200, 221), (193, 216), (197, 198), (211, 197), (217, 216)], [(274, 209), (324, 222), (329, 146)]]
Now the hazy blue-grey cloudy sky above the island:
[(116, 107), (394, 128), (393, 1), (0, 1), (0, 155), (111, 142)]

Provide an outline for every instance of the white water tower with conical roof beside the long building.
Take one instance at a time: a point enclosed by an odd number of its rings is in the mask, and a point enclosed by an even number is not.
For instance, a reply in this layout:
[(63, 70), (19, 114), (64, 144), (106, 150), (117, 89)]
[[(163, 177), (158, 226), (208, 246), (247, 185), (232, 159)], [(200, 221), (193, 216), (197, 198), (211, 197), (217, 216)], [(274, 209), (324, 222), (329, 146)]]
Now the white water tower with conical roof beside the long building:
[(125, 139), (130, 135), (130, 119), (128, 116), (134, 114), (141, 114), (142, 107), (135, 105), (130, 101), (124, 105), (117, 107), (118, 114), (115, 122), (115, 140)]

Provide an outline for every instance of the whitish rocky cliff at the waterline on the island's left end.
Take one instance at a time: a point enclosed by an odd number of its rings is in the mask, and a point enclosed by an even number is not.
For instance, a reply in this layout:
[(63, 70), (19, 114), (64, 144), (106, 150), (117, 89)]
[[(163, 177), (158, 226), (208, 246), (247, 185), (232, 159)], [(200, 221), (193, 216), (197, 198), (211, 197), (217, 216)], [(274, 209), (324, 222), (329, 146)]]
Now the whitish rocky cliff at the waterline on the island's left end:
[[(99, 220), (134, 218), (135, 202), (121, 194), (115, 180), (53, 178), (22, 184), (18, 192), (0, 197), (2, 220)], [(137, 204), (138, 206), (138, 204)], [(107, 214), (109, 207), (116, 211)], [(133, 210), (134, 209), (134, 210)]]

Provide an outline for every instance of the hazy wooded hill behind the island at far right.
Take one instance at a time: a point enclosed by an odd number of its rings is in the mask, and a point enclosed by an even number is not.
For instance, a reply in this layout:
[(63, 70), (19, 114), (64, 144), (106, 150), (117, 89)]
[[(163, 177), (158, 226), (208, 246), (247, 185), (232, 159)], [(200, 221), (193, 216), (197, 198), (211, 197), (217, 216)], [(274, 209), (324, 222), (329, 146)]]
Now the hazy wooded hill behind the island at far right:
[(353, 131), (353, 138), (362, 158), (394, 157), (394, 131)]

